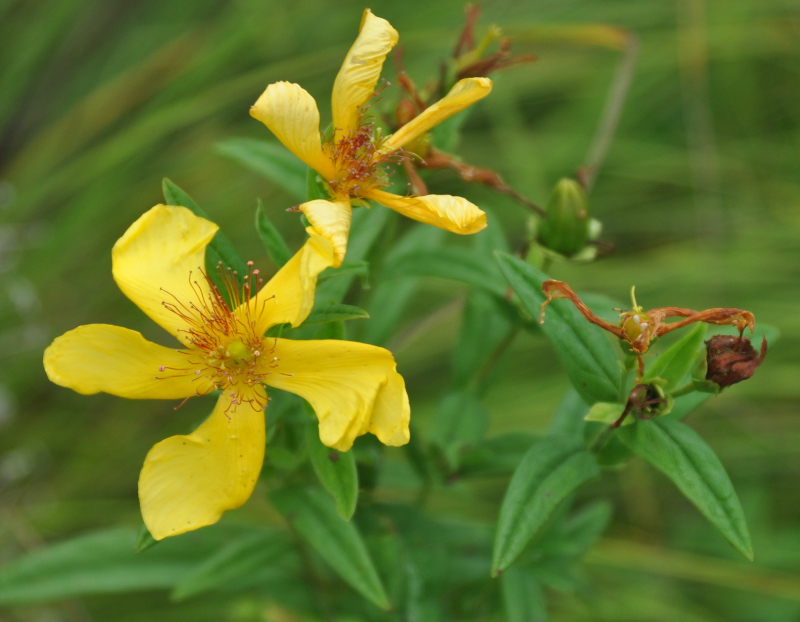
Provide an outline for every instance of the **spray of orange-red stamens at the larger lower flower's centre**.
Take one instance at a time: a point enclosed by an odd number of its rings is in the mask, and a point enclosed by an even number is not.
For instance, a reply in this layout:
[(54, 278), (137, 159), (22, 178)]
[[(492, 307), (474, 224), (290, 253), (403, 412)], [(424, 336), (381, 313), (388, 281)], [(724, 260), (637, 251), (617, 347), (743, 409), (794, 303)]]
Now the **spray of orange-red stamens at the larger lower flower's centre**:
[[(270, 344), (256, 334), (257, 322), (253, 313), (262, 308), (250, 304), (255, 291), (261, 285), (258, 270), (253, 270), (253, 262), (248, 262), (248, 275), (244, 277), (241, 288), (237, 274), (228, 269), (218, 268), (222, 277), (230, 305), (211, 279), (202, 271), (207, 287), (192, 280), (189, 274), (195, 299), (165, 301), (164, 306), (176, 313), (186, 324), (180, 329), (188, 347), (186, 367), (171, 369), (178, 375), (191, 375), (197, 383), (197, 395), (205, 395), (214, 390), (228, 393), (231, 408), (247, 402), (255, 410), (266, 405), (263, 392), (257, 391), (267, 375), (277, 367), (278, 359), (273, 356), (277, 340)], [(254, 290), (251, 294), (251, 288)], [(233, 307), (233, 308), (231, 308)], [(254, 310), (255, 309), (255, 310)], [(162, 367), (159, 371), (164, 371)]]

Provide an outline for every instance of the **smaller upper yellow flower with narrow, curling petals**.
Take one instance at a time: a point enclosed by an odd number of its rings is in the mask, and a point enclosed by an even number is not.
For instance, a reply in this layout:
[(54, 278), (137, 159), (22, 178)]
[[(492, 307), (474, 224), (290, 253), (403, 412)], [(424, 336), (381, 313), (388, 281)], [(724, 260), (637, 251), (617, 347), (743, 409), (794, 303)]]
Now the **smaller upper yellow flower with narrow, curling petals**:
[(333, 245), (334, 267), (347, 251), (352, 218), (351, 202), (371, 199), (401, 214), (454, 233), (477, 233), (486, 227), (486, 214), (461, 197), (399, 196), (388, 186), (387, 162), (402, 157), (400, 149), (448, 117), (489, 94), (488, 78), (460, 80), (439, 102), (397, 132), (382, 138), (373, 131), (366, 105), (375, 95), (386, 55), (397, 43), (397, 31), (385, 19), (364, 11), (361, 29), (333, 84), (333, 132), (320, 140), (319, 111), (314, 98), (297, 84), (276, 82), (250, 108), (294, 155), (317, 171), (331, 200), (303, 203), (314, 232)]

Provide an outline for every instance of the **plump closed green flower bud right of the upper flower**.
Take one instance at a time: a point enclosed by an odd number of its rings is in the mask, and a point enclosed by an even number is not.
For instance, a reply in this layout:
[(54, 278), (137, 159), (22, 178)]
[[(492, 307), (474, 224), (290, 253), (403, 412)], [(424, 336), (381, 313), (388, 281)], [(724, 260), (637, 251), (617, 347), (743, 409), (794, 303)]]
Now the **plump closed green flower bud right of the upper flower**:
[(550, 250), (574, 255), (589, 238), (589, 205), (586, 192), (574, 179), (556, 184), (539, 226), (539, 241)]

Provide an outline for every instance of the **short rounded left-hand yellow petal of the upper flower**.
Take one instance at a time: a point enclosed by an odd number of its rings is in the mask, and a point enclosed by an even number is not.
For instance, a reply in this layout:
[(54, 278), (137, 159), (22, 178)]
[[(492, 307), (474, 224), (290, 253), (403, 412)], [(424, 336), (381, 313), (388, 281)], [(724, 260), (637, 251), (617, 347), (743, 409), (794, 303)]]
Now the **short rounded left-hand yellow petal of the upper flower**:
[(298, 84), (275, 82), (250, 107), (276, 138), (325, 179), (336, 177), (333, 163), (322, 152), (317, 102)]

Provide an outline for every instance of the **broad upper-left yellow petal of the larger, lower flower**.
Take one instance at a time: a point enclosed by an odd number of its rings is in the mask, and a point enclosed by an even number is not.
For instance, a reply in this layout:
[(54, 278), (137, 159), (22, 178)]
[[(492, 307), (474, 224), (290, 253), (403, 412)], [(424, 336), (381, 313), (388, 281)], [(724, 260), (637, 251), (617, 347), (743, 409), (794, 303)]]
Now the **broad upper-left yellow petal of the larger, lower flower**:
[(128, 228), (111, 251), (114, 280), (122, 292), (183, 343), (188, 343), (181, 332), (186, 321), (169, 305), (205, 300), (210, 287), (201, 270), (205, 270), (206, 246), (218, 228), (185, 207), (156, 205)]

